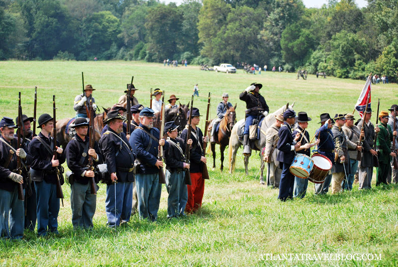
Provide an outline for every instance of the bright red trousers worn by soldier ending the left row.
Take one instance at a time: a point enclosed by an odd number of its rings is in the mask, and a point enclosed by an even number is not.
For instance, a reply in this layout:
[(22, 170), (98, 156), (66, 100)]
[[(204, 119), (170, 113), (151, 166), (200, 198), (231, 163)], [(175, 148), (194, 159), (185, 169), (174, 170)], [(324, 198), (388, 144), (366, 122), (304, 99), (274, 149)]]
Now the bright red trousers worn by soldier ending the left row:
[(191, 173), (192, 185), (187, 185), (188, 188), (188, 202), (185, 206), (186, 213), (197, 211), (202, 205), (204, 179), (202, 179), (201, 172)]

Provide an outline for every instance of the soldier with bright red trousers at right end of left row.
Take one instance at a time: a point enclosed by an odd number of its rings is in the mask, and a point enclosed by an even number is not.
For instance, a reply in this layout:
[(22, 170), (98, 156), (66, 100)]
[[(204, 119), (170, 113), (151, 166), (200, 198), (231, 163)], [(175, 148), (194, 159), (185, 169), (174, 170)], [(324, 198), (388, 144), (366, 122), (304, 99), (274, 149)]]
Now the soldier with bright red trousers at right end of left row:
[[(188, 112), (187, 117), (190, 117), (191, 111)], [(207, 136), (203, 137), (202, 131), (198, 125), (200, 122), (200, 114), (197, 108), (192, 108), (192, 132), (191, 132), (191, 157), (190, 157), (190, 173), (192, 185), (188, 187), (188, 202), (185, 208), (187, 213), (198, 211), (202, 206), (203, 192), (204, 192), (204, 179), (202, 178), (203, 163), (206, 163), (206, 157), (203, 151), (203, 142), (208, 142)], [(187, 140), (188, 127), (181, 133), (181, 138)]]

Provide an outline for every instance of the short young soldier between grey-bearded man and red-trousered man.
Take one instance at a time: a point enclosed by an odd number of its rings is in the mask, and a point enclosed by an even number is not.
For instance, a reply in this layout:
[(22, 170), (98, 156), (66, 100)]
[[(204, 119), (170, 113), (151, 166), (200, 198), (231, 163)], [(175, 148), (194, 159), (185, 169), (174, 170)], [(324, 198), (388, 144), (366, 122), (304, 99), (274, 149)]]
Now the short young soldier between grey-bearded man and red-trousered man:
[[(165, 151), (166, 161), (166, 189), (169, 193), (167, 199), (167, 218), (185, 216), (184, 210), (188, 201), (188, 190), (185, 184), (185, 169), (190, 168), (190, 164), (185, 163), (186, 141), (177, 137), (178, 126), (174, 122), (165, 124), (167, 142), (169, 149)], [(188, 140), (192, 144), (192, 139)]]

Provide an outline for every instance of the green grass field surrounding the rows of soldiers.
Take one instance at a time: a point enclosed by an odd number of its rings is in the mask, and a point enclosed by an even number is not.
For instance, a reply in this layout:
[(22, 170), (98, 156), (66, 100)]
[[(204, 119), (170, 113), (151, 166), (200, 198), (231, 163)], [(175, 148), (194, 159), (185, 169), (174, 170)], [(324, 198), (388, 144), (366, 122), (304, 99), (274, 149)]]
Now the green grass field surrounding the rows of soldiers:
[[(38, 87), (38, 116), (52, 114), (52, 95), (56, 95), (57, 118), (73, 117), (73, 100), (85, 84), (92, 84), (99, 107), (108, 108), (123, 94), (134, 76), (139, 90), (135, 96), (149, 104), (150, 88), (161, 88), (166, 97), (175, 94), (187, 104), (193, 87), (199, 84), (194, 106), (205, 115), (207, 92), (212, 92), (211, 116), (223, 92), (237, 103), (237, 119), (244, 117), (245, 105), (239, 94), (252, 82), (262, 83), (260, 93), (270, 112), (295, 102), (295, 111), (312, 118), (308, 131), (312, 137), (324, 112), (351, 113), (365, 81), (309, 75), (296, 80), (294, 73), (262, 72), (261, 75), (199, 71), (199, 66), (164, 67), (144, 62), (0, 62), (0, 116), (15, 118), (18, 92), (22, 93), (23, 113), (32, 116), (34, 86)], [(396, 84), (372, 86), (372, 108), (381, 98), (380, 110), (397, 104)], [(376, 121), (376, 113), (372, 122)], [(358, 115), (355, 113), (355, 117)], [(204, 119), (201, 120), (201, 128)], [(0, 266), (398, 266), (398, 186), (368, 191), (354, 190), (337, 195), (315, 196), (309, 183), (302, 200), (281, 203), (278, 190), (260, 185), (255, 176), (258, 153), (244, 173), (242, 150), (231, 175), (209, 169), (203, 206), (199, 213), (184, 219), (167, 220), (167, 192), (163, 186), (157, 223), (133, 216), (126, 227), (106, 227), (105, 186), (100, 185), (95, 229), (73, 231), (65, 184), (64, 203), (58, 218), (60, 236), (37, 238), (26, 232), (19, 242), (0, 241)], [(228, 167), (225, 152), (225, 169)], [(210, 155), (207, 156), (208, 160)], [(216, 165), (219, 167), (219, 154)], [(66, 165), (66, 164), (65, 164)], [(208, 163), (208, 165), (210, 165)], [(374, 179), (375, 180), (375, 179)], [(374, 184), (373, 184), (374, 185)], [(282, 260), (267, 261), (266, 254), (377, 254), (381, 261), (368, 260)], [(301, 256), (300, 256), (301, 259)], [(304, 258), (305, 259), (305, 258)]]

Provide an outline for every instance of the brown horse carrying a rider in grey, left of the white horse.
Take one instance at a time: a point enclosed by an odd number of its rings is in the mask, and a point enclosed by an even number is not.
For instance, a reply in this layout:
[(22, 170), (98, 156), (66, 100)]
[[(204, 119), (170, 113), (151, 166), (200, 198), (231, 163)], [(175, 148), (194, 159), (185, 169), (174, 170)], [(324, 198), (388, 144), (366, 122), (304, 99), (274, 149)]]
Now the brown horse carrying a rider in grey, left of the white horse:
[[(221, 120), (220, 124), (219, 124), (219, 130), (218, 130), (218, 134), (216, 142), (215, 143), (210, 143), (211, 146), (211, 153), (213, 155), (213, 169), (215, 169), (215, 144), (218, 143), (220, 145), (220, 153), (221, 153), (221, 166), (220, 166), (220, 170), (222, 171), (224, 168), (223, 162), (224, 162), (224, 150), (225, 147), (228, 145), (229, 143), (229, 137), (231, 136), (231, 130), (233, 129), (235, 123), (236, 123), (236, 113), (235, 113), (235, 109), (236, 109), (236, 104), (234, 107), (230, 107), (229, 109), (227, 109), (227, 112), (225, 113), (224, 118)], [(211, 122), (213, 120), (211, 120), (209, 122), (209, 127), (207, 128), (207, 136), (208, 139), (210, 140), (210, 132), (211, 132)]]

